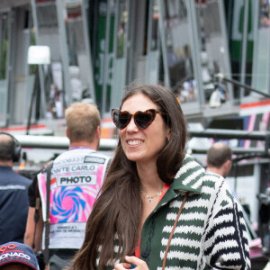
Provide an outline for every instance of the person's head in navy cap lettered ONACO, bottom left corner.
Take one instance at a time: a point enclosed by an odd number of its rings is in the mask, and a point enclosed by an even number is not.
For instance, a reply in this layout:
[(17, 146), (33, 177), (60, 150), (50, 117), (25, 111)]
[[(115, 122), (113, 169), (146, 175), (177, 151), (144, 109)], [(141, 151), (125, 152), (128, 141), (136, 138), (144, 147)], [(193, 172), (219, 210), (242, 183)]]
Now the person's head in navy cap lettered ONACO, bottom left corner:
[(0, 270), (40, 270), (31, 247), (18, 242), (0, 246)]

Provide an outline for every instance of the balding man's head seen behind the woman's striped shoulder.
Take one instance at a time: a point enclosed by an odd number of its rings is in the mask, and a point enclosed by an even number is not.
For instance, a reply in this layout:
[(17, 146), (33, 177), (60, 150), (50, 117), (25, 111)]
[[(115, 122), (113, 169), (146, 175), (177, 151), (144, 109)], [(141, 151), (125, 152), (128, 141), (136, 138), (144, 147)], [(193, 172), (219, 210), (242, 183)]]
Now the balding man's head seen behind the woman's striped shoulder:
[(231, 148), (223, 142), (216, 142), (207, 151), (206, 170), (225, 178), (229, 175), (232, 166), (231, 159)]

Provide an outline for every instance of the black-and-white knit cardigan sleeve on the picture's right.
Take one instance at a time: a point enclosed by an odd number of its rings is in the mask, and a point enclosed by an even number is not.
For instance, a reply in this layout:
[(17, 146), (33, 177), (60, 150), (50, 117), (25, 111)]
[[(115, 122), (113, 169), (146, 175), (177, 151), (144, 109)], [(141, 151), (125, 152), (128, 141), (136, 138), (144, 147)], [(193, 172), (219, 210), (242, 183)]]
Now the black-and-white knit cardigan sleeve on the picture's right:
[(250, 269), (247, 228), (241, 206), (224, 179), (217, 185), (206, 222), (202, 265), (212, 269)]

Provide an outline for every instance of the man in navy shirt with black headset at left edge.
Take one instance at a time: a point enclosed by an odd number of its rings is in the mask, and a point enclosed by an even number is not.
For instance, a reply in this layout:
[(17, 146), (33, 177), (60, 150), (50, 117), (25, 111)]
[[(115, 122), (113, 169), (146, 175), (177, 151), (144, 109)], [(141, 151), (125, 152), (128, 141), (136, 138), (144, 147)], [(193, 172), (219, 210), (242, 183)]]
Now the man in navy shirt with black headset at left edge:
[(13, 170), (21, 151), (21, 144), (13, 135), (0, 132), (0, 245), (10, 241), (23, 243), (31, 181)]

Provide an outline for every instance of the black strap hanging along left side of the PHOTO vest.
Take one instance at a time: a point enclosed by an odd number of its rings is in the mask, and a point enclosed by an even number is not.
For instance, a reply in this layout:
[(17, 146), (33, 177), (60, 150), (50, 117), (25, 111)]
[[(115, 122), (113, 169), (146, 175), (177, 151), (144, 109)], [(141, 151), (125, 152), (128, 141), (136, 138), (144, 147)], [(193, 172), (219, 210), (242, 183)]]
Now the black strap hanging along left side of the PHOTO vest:
[(47, 182), (46, 182), (46, 220), (45, 220), (45, 249), (44, 249), (44, 262), (45, 265), (49, 263), (49, 194), (50, 194), (50, 170), (53, 166), (53, 161), (49, 162), (46, 166)]

